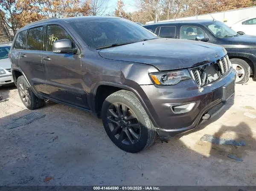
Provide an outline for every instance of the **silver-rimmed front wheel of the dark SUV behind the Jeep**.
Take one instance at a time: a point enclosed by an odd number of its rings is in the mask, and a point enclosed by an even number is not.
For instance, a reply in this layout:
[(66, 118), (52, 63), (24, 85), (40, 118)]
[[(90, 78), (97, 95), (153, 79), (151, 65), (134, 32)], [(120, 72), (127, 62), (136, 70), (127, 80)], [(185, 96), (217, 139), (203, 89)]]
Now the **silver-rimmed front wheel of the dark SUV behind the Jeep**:
[(247, 83), (250, 77), (250, 66), (242, 59), (230, 59), (232, 67), (236, 70), (236, 83)]

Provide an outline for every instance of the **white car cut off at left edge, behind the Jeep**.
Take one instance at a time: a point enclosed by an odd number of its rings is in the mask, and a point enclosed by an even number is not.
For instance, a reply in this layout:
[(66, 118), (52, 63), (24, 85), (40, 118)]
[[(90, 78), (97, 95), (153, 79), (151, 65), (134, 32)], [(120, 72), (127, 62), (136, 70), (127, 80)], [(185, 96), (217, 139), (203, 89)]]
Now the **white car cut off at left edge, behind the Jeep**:
[(13, 83), (11, 62), (8, 57), (12, 43), (0, 43), (0, 86)]

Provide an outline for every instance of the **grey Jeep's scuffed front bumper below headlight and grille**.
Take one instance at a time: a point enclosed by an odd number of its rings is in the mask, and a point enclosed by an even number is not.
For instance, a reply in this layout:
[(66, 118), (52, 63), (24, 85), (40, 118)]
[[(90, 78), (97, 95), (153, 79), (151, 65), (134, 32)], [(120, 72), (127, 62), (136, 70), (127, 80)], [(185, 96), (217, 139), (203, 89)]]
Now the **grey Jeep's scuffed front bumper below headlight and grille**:
[[(223, 87), (227, 84), (231, 84), (231, 88), (235, 86), (235, 77), (236, 72), (231, 69), (225, 77), (204, 86), (201, 90), (194, 80), (186, 80), (174, 86), (143, 85), (138, 91), (143, 95), (160, 138), (168, 140), (195, 128), (207, 112), (211, 117), (213, 113), (217, 114), (218, 108), (221, 108), (228, 98)], [(195, 102), (195, 106), (187, 113), (175, 114), (170, 108), (175, 104), (191, 102)]]

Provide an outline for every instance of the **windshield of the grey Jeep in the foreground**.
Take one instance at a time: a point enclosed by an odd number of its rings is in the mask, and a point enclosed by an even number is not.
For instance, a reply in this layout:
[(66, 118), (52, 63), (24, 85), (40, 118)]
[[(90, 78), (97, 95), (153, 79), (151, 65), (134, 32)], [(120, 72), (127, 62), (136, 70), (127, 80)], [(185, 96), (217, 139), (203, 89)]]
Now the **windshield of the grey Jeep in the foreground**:
[(91, 48), (104, 48), (158, 38), (142, 26), (126, 19), (79, 20), (70, 23)]

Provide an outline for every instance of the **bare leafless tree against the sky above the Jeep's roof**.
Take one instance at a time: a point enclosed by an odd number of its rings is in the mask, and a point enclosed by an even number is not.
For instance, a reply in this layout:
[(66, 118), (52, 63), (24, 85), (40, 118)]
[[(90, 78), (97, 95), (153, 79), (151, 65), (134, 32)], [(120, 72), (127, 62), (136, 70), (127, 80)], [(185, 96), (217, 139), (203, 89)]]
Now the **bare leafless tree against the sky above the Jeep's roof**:
[(91, 15), (103, 15), (108, 9), (109, 0), (90, 0)]

